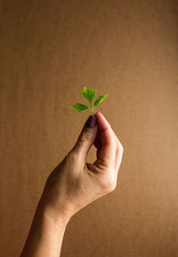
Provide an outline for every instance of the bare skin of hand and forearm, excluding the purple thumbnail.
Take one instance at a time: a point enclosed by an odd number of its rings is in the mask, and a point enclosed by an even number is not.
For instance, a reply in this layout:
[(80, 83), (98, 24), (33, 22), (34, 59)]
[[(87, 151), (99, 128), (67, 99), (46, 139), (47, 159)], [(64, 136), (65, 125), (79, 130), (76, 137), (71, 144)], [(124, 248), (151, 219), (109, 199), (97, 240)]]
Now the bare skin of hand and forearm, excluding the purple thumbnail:
[[(84, 125), (75, 146), (47, 178), (20, 257), (59, 257), (70, 218), (116, 189), (124, 149), (106, 118), (100, 112), (95, 116), (97, 124)], [(92, 145), (97, 149), (93, 164), (86, 163)]]

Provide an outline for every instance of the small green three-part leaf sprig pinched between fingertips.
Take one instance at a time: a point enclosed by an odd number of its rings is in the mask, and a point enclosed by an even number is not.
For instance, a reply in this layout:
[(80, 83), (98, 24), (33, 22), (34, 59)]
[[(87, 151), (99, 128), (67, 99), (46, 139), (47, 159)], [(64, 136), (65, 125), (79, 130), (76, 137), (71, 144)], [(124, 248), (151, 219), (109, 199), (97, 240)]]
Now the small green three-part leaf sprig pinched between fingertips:
[(85, 109), (91, 109), (93, 111), (93, 115), (94, 115), (94, 107), (99, 105), (101, 103), (102, 100), (104, 100), (105, 98), (107, 98), (108, 94), (102, 94), (98, 97), (97, 100), (95, 100), (95, 102), (93, 103), (93, 99), (94, 96), (96, 95), (96, 90), (93, 90), (91, 88), (88, 87), (84, 87), (83, 91), (81, 92), (81, 94), (90, 102), (90, 106), (88, 107), (85, 104), (79, 103), (77, 102), (76, 104), (70, 106), (69, 108), (73, 108), (77, 111), (83, 111)]

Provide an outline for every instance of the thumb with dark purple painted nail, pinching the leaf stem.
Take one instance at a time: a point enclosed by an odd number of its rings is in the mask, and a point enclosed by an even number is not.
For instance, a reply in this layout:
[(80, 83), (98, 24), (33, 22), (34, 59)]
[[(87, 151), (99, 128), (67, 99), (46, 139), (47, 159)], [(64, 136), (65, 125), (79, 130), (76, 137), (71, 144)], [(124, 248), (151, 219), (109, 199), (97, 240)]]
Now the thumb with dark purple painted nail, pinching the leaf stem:
[(77, 138), (77, 142), (73, 150), (85, 160), (89, 149), (91, 149), (97, 133), (96, 116), (89, 116), (83, 126), (81, 133)]

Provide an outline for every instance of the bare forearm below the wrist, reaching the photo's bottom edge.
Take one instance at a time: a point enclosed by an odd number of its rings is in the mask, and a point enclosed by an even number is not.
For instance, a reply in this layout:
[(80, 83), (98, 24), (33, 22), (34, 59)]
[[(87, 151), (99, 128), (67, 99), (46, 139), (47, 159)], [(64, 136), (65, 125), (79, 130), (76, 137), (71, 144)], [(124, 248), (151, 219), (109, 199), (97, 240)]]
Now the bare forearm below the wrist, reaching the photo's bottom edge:
[(59, 257), (66, 226), (66, 222), (53, 221), (38, 204), (20, 257)]

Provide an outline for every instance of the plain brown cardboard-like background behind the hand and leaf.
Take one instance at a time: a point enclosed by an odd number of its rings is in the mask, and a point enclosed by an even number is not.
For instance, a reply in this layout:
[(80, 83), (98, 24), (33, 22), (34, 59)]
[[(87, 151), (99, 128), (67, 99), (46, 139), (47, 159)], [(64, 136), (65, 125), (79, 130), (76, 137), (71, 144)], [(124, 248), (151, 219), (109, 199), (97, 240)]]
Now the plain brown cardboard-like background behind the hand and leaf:
[[(178, 1), (0, 2), (1, 256), (19, 256), (48, 174), (89, 111), (124, 146), (117, 189), (77, 213), (62, 257), (178, 256)], [(94, 160), (92, 149), (89, 160)]]

